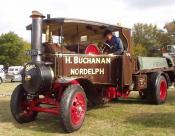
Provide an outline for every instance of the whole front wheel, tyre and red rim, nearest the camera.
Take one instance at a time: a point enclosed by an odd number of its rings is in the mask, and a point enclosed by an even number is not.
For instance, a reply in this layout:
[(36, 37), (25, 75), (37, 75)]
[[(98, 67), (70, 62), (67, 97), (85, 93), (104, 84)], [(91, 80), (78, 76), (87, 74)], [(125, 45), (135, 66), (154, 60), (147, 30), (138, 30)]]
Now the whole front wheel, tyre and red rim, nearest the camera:
[(69, 85), (61, 98), (61, 123), (66, 132), (78, 130), (85, 119), (86, 95), (80, 85)]

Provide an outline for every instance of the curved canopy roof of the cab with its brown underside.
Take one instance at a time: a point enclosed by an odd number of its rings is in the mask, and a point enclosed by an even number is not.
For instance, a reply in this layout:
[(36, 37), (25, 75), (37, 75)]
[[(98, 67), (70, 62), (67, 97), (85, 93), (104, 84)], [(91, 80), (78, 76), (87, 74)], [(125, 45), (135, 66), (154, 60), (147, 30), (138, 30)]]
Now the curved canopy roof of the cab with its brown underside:
[[(95, 21), (72, 19), (72, 18), (51, 18), (43, 20), (43, 33), (46, 32), (47, 26), (50, 26), (53, 35), (60, 36), (61, 26), (63, 28), (63, 36), (65, 39), (74, 39), (77, 36), (87, 35), (90, 39), (101, 39), (106, 29), (111, 31), (121, 31), (123, 27)], [(28, 25), (27, 30), (32, 29), (32, 25)], [(128, 28), (124, 28), (128, 29)], [(89, 39), (89, 38), (88, 38)]]

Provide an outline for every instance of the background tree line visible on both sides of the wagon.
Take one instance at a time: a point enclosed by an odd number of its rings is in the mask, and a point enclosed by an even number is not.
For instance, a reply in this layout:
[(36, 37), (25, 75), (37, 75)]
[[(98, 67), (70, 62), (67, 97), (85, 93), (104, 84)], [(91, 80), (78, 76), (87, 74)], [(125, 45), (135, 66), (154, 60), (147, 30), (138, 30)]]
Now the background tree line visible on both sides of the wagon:
[[(175, 38), (175, 37), (174, 37)], [(160, 56), (161, 48), (175, 44), (175, 39), (152, 24), (135, 24), (132, 28), (132, 54), (134, 56)], [(14, 32), (0, 35), (0, 64), (5, 66), (23, 65), (30, 60), (26, 50), (30, 43)]]

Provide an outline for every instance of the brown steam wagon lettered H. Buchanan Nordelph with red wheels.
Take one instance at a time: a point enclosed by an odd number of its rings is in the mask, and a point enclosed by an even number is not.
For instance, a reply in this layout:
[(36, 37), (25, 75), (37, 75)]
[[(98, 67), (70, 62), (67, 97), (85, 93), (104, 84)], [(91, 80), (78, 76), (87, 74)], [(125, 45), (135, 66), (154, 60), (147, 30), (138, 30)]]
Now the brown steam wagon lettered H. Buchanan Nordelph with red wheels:
[[(11, 96), (11, 112), (19, 123), (34, 121), (37, 113), (60, 117), (66, 132), (78, 130), (87, 105), (127, 98), (138, 91), (141, 98), (162, 104), (174, 82), (174, 60), (131, 55), (131, 30), (115, 25), (68, 18), (47, 18), (33, 11), (31, 62), (22, 72), (22, 84)], [(120, 37), (124, 51), (110, 53), (103, 33)], [(44, 38), (44, 39), (42, 39)]]

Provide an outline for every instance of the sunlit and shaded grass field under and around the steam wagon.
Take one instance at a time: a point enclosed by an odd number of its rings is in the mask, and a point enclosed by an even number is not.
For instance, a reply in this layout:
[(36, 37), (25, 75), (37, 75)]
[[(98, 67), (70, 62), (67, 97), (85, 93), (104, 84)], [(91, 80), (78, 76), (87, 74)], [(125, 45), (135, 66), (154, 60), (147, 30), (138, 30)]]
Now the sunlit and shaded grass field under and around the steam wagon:
[[(3, 83), (0, 94), (11, 93), (17, 83)], [(87, 112), (83, 127), (65, 134), (59, 118), (40, 113), (35, 122), (20, 125), (14, 121), (9, 109), (10, 96), (0, 96), (0, 136), (174, 136), (175, 91), (170, 90), (164, 105), (149, 105), (135, 99), (119, 100)]]

